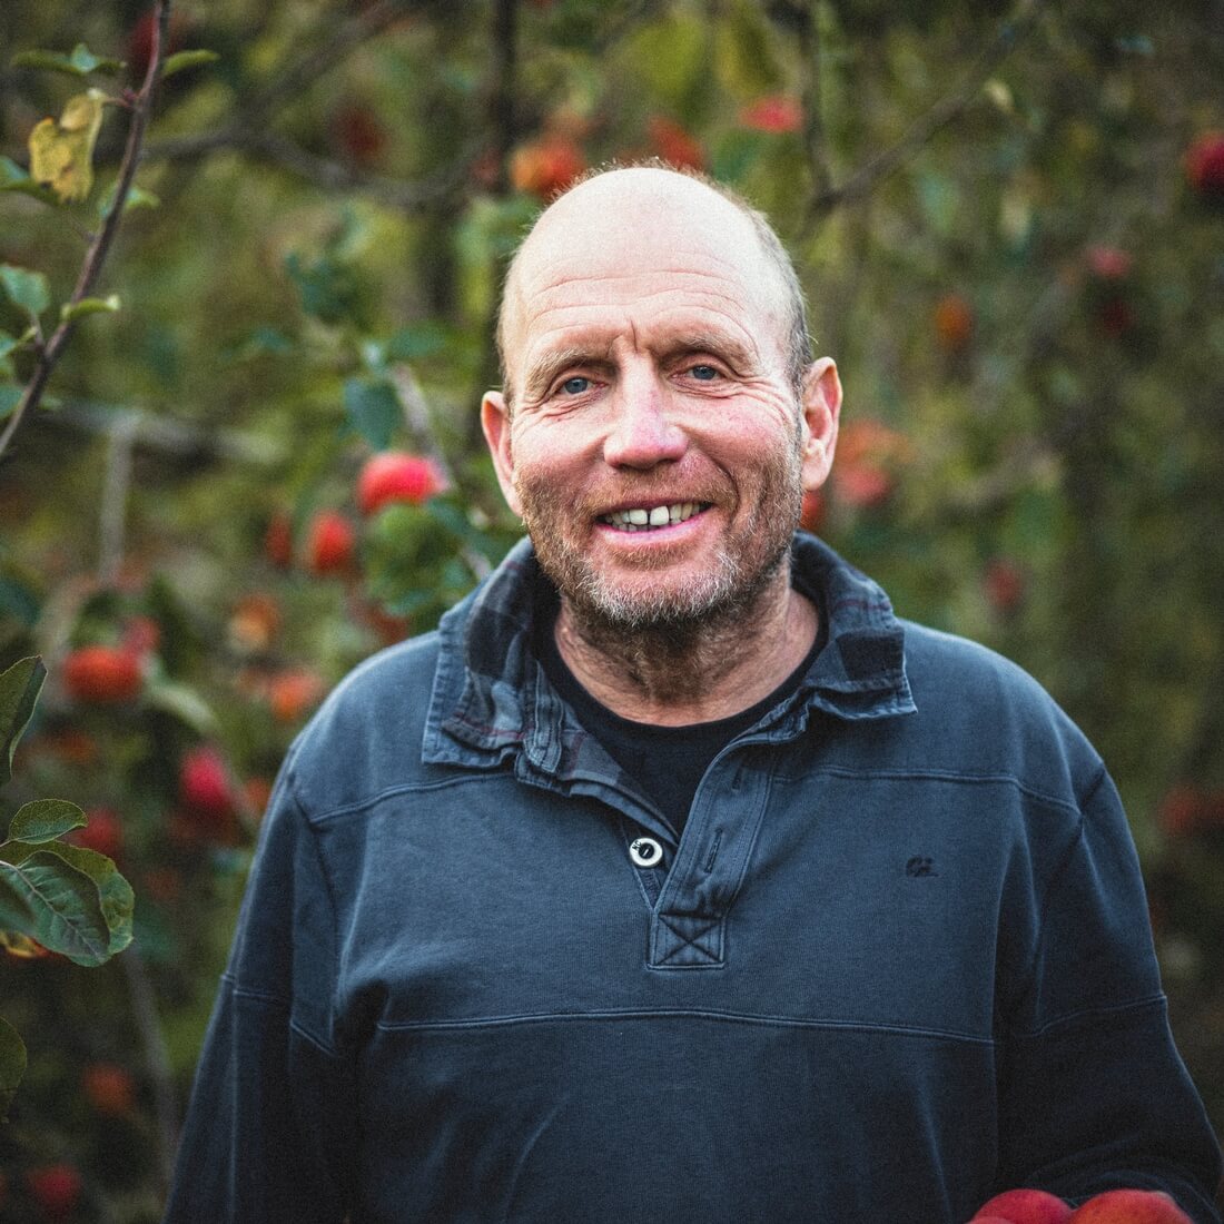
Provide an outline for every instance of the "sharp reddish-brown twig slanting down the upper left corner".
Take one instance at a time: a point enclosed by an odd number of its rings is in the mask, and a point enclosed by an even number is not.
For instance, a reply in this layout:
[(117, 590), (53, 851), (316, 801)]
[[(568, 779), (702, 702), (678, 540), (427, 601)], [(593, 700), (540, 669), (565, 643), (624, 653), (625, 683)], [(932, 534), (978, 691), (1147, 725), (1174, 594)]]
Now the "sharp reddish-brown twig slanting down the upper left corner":
[[(103, 219), (102, 228), (94, 235), (93, 241), (86, 251), (84, 262), (81, 264), (81, 273), (77, 277), (76, 288), (72, 290), (72, 296), (67, 301), (70, 307), (82, 301), (84, 297), (88, 297), (89, 291), (93, 289), (102, 273), (103, 264), (106, 262), (106, 256), (110, 253), (111, 244), (115, 241), (115, 234), (119, 231), (119, 224), (122, 219), (124, 208), (127, 203), (127, 195), (131, 191), (132, 180), (136, 176), (136, 168), (140, 164), (141, 146), (144, 142), (144, 130), (148, 126), (149, 114), (153, 110), (153, 99), (157, 92), (158, 77), (162, 72), (163, 50), (165, 48), (166, 31), (170, 22), (170, 2), (171, 0), (157, 0), (157, 20), (153, 22), (153, 45), (149, 53), (149, 65), (144, 73), (144, 81), (141, 84), (140, 92), (132, 102), (132, 119), (127, 129), (127, 143), (124, 148), (124, 157), (119, 164), (119, 179), (115, 182), (115, 198), (111, 202), (110, 211)], [(21, 399), (17, 401), (16, 409), (9, 417), (9, 422), (5, 426), (4, 432), (0, 433), (0, 458), (2, 458), (5, 452), (9, 449), (13, 435), (17, 432), (26, 415), (38, 408), (38, 404), (43, 398), (43, 392), (47, 389), (47, 383), (51, 377), (51, 371), (55, 368), (64, 349), (72, 338), (75, 328), (76, 323), (71, 317), (61, 318), (50, 338), (44, 345), (40, 346), (38, 361), (34, 365), (34, 372), (31, 375), (29, 382), (26, 384), (26, 389), (22, 393)]]

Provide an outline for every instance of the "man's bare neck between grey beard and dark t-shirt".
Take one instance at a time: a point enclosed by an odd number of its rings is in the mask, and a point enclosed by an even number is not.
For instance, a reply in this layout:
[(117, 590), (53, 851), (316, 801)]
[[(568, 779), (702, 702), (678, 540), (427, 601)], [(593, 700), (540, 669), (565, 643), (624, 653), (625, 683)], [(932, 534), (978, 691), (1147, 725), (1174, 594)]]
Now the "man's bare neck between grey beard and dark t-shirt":
[(554, 632), (596, 700), (623, 718), (678, 727), (728, 718), (767, 696), (803, 662), (816, 628), (816, 608), (783, 567), (734, 618), (629, 632), (584, 619), (562, 599)]

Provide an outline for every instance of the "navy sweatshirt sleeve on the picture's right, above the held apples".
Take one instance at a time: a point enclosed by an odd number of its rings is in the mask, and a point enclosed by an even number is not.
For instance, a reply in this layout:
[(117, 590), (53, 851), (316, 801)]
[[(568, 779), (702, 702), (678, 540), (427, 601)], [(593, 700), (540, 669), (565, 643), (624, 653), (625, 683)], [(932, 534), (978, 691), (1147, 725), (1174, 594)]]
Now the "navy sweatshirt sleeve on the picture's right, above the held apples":
[(1220, 1154), (1169, 1029), (1138, 859), (1102, 770), (1045, 890), (1000, 1059), (999, 1189), (1163, 1190), (1218, 1224)]

